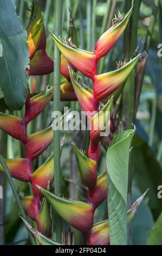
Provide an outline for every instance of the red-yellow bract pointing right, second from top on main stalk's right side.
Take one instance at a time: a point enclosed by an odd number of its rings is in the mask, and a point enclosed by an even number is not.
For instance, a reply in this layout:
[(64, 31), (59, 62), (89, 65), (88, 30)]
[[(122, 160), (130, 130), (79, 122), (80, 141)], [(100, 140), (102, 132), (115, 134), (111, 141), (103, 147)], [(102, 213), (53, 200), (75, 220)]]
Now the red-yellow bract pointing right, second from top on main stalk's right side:
[(140, 54), (121, 68), (94, 77), (94, 99), (101, 101), (107, 99), (115, 90), (122, 88), (128, 76), (131, 74)]

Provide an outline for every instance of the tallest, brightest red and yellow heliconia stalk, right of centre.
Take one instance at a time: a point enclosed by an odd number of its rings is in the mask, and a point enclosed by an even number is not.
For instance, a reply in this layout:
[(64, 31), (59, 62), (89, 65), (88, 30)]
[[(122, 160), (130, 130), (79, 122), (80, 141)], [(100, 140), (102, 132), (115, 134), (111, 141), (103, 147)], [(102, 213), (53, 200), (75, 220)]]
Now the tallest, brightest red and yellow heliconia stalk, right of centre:
[[(69, 67), (69, 75), (76, 97), (91, 125), (88, 157), (73, 144), (82, 182), (88, 187), (87, 203), (60, 198), (44, 190), (41, 186), (37, 186), (37, 188), (64, 220), (87, 234), (93, 225), (95, 209), (107, 196), (106, 174), (98, 177), (96, 174), (96, 164), (101, 154), (101, 139), (104, 136), (101, 132), (106, 132), (107, 126), (110, 125), (108, 113), (112, 111), (113, 102), (118, 99), (125, 81), (138, 62), (139, 56), (129, 63), (119, 63), (118, 70), (102, 75), (98, 75), (97, 64), (98, 60), (111, 50), (124, 32), (131, 12), (132, 9), (126, 15), (119, 14), (118, 17), (115, 17), (112, 27), (96, 43), (94, 53), (80, 50), (73, 45), (72, 41), (61, 41), (52, 34), (56, 46), (68, 62), (75, 69), (92, 78), (94, 83), (94, 90), (91, 90), (85, 85), (82, 77)], [(112, 97), (113, 95), (114, 97)], [(58, 99), (55, 98), (55, 100)], [(98, 124), (102, 124), (102, 126), (100, 127)], [(96, 127), (97, 129), (95, 129)]]

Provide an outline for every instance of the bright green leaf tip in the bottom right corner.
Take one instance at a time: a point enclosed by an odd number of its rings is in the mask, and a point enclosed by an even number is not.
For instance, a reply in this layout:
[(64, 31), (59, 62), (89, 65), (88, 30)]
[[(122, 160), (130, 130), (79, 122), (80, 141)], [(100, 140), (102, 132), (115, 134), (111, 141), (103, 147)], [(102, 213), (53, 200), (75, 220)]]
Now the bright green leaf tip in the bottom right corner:
[(147, 239), (147, 245), (162, 245), (162, 212)]

